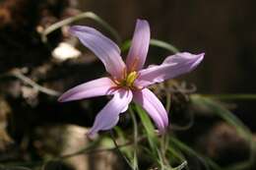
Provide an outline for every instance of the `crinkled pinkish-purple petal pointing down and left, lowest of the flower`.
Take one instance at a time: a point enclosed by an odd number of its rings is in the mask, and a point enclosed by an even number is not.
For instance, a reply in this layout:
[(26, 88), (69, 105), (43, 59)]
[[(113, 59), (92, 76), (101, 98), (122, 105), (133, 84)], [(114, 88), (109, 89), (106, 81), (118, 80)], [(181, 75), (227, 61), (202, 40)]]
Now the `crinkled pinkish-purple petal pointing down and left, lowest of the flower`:
[(93, 138), (98, 131), (105, 131), (113, 128), (118, 120), (119, 114), (128, 108), (128, 104), (133, 97), (131, 90), (118, 89), (115, 91), (113, 98), (105, 107), (96, 115), (93, 128), (89, 132), (89, 137)]

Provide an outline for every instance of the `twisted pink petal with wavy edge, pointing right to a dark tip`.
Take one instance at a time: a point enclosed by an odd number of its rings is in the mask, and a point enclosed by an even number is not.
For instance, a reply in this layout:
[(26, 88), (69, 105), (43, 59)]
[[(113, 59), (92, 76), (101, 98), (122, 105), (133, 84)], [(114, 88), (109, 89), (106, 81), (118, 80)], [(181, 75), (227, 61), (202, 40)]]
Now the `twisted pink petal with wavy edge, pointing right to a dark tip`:
[(204, 53), (194, 55), (187, 52), (167, 57), (161, 65), (150, 66), (139, 72), (135, 82), (138, 86), (148, 86), (175, 78), (195, 69), (204, 58)]

